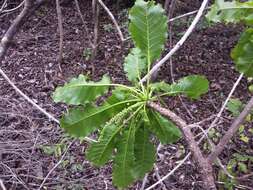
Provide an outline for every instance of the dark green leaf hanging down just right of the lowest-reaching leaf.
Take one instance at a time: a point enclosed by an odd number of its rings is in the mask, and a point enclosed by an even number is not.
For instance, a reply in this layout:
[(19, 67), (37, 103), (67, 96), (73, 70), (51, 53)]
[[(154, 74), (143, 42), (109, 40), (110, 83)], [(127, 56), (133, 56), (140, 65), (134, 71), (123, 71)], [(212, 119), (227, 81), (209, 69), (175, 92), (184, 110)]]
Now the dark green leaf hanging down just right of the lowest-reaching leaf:
[(135, 175), (143, 178), (149, 172), (155, 162), (155, 147), (149, 140), (149, 131), (145, 127), (139, 127), (135, 134)]

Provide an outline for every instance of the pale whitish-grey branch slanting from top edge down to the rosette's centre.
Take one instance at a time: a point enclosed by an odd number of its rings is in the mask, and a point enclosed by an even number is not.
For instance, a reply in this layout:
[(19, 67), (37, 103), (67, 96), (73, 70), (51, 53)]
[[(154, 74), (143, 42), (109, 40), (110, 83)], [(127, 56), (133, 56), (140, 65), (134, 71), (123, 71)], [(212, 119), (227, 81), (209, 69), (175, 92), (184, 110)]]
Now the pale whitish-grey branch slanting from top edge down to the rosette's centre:
[(177, 44), (170, 50), (170, 52), (162, 58), (151, 70), (149, 73), (147, 73), (140, 81), (140, 83), (144, 83), (150, 76), (153, 75), (154, 72), (156, 72), (172, 55), (174, 55), (180, 47), (184, 44), (184, 42), (188, 39), (188, 37), (191, 35), (193, 30), (195, 29), (197, 23), (200, 21), (200, 18), (202, 17), (204, 10), (206, 9), (206, 6), (208, 4), (209, 0), (203, 0), (198, 13), (194, 20), (192, 21), (190, 27), (187, 29), (183, 37), (177, 42)]

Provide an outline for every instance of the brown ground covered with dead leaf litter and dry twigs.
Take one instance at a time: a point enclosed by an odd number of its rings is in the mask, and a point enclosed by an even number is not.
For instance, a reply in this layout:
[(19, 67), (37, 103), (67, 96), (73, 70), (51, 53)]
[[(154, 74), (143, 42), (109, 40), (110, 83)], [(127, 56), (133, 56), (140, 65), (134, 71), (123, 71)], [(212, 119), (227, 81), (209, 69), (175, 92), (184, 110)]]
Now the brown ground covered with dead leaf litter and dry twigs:
[[(180, 1), (176, 14), (195, 10), (200, 1)], [(81, 8), (85, 13), (85, 21), (89, 34), (84, 32), (82, 22), (74, 5), (63, 8), (64, 15), (64, 63), (57, 63), (59, 34), (57, 31), (57, 15), (54, 5), (48, 5), (29, 18), (13, 41), (1, 68), (12, 81), (31, 99), (59, 118), (67, 107), (55, 104), (51, 94), (55, 87), (63, 84), (80, 73), (98, 80), (108, 73), (117, 83), (127, 83), (122, 63), (131, 42), (120, 43), (116, 30), (108, 16), (101, 11), (99, 51), (95, 60), (85, 60), (83, 51), (90, 48), (88, 35), (92, 37), (91, 3), (84, 2)], [(124, 34), (127, 36), (126, 11), (115, 10)], [(17, 13), (0, 16), (0, 36), (8, 29)], [(176, 15), (175, 14), (175, 15)], [(187, 27), (187, 19), (173, 24), (171, 44), (175, 44), (180, 34)], [(180, 51), (173, 57), (173, 78), (175, 80), (189, 74), (203, 74), (210, 81), (208, 94), (198, 101), (190, 101), (184, 97), (167, 98), (168, 108), (174, 110), (189, 123), (201, 121), (217, 113), (230, 92), (233, 83), (239, 76), (230, 58), (230, 51), (239, 39), (242, 26), (215, 25), (206, 26), (202, 22), (191, 35)], [(167, 43), (166, 52), (170, 43)], [(166, 53), (164, 52), (164, 53)], [(172, 81), (169, 63), (158, 73), (157, 80)], [(243, 79), (234, 97), (244, 102), (250, 94), (247, 81)], [(223, 133), (232, 118), (225, 114), (217, 129)], [(204, 123), (207, 127), (210, 122)], [(252, 125), (252, 124), (251, 124)], [(0, 179), (4, 180), (8, 189), (38, 189), (44, 177), (60, 160), (59, 154), (66, 150), (72, 139), (66, 137), (62, 130), (44, 115), (35, 110), (21, 98), (9, 84), (0, 77)], [(249, 125), (250, 126), (250, 125)], [(197, 131), (196, 131), (197, 132)], [(253, 156), (252, 135), (250, 142), (244, 143), (235, 137), (220, 156), (223, 164), (235, 152)], [(56, 146), (57, 145), (57, 146)], [(157, 167), (161, 176), (173, 169), (177, 161), (188, 153), (185, 142), (181, 140), (174, 145), (162, 146)], [(57, 147), (58, 154), (45, 153), (45, 146)], [(69, 148), (64, 162), (57, 167), (44, 184), (44, 189), (115, 189), (111, 182), (111, 166), (101, 169), (93, 167), (84, 159), (86, 142), (74, 141)], [(251, 164), (252, 167), (252, 164)], [(250, 168), (252, 169), (252, 168)], [(218, 172), (218, 169), (216, 170)], [(152, 171), (146, 187), (157, 181)], [(253, 187), (253, 179), (248, 178), (240, 185)], [(131, 189), (140, 189), (139, 181)], [(188, 190), (202, 189), (201, 178), (196, 164), (189, 159), (170, 178), (164, 181), (166, 189)], [(157, 186), (155, 189), (162, 189)], [(247, 187), (245, 187), (247, 189)]]

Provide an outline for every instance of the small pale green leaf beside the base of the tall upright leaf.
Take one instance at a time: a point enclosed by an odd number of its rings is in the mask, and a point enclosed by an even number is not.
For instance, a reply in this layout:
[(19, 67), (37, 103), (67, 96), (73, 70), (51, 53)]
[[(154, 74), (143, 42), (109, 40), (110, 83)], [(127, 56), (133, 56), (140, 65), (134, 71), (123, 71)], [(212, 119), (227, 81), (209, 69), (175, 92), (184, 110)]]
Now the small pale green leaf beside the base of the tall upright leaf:
[(141, 50), (133, 48), (125, 58), (124, 71), (131, 82), (137, 82), (141, 78), (143, 71), (146, 69), (146, 59), (143, 57)]

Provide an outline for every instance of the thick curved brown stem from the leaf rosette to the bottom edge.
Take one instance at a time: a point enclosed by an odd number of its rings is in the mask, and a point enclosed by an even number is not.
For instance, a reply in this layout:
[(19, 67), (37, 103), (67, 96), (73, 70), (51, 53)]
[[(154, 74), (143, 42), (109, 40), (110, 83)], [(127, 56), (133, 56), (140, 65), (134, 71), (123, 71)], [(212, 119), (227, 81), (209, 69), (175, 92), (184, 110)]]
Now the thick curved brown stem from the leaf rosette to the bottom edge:
[(198, 162), (201, 170), (202, 180), (204, 182), (204, 186), (208, 190), (215, 190), (215, 181), (213, 177), (213, 169), (212, 165), (209, 161), (203, 156), (197, 142), (194, 139), (194, 135), (191, 132), (190, 127), (186, 124), (186, 122), (177, 116), (174, 112), (170, 111), (169, 109), (162, 108), (160, 105), (150, 102), (148, 106), (159, 112), (161, 115), (167, 117), (171, 121), (173, 121), (179, 129), (182, 131), (186, 142), (189, 145), (189, 149), (191, 150), (195, 160)]

